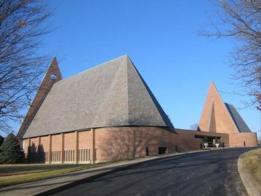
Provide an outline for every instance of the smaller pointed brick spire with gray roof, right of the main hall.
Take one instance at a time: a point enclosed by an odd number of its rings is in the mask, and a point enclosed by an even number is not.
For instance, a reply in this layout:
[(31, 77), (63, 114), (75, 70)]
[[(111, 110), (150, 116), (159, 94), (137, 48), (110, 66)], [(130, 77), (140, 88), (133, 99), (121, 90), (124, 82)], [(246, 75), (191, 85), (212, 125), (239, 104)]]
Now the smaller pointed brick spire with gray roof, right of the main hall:
[(198, 131), (216, 133), (251, 132), (234, 106), (223, 102), (212, 81), (198, 124)]

